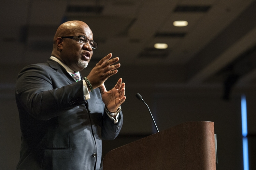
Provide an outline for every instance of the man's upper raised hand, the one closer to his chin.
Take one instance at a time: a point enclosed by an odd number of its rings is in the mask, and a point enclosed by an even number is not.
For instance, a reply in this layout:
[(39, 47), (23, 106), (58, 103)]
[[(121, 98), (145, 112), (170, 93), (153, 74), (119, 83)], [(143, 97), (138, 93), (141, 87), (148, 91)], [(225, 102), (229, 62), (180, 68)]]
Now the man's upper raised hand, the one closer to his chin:
[(110, 76), (117, 73), (116, 69), (120, 67), (120, 64), (114, 63), (116, 63), (119, 58), (115, 57), (110, 60), (111, 57), (112, 54), (110, 53), (102, 58), (86, 77), (90, 81), (94, 89), (101, 86)]

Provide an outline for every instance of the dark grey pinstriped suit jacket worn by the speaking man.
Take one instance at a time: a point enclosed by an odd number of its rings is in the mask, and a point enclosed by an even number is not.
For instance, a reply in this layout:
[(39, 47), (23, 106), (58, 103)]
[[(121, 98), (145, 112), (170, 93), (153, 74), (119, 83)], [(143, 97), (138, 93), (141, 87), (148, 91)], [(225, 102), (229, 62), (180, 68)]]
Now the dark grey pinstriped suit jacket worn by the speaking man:
[(123, 115), (114, 124), (104, 112), (99, 88), (90, 97), (87, 105), (83, 82), (75, 82), (51, 59), (23, 68), (16, 82), (22, 132), (17, 169), (99, 169), (101, 140), (115, 139)]

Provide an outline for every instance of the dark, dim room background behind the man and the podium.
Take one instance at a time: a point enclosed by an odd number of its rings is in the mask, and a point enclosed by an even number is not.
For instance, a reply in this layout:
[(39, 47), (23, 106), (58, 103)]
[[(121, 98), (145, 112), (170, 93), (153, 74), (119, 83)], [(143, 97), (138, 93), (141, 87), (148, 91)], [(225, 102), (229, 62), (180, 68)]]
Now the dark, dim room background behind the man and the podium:
[[(15, 81), (26, 65), (51, 56), (53, 36), (68, 20), (86, 22), (98, 48), (88, 68), (108, 53), (120, 58), (126, 83), (124, 125), (103, 141), (103, 154), (186, 121), (213, 121), (217, 170), (243, 169), (241, 95), (247, 99), (250, 169), (256, 169), (256, 1), (254, 0), (2, 0), (0, 2), (0, 169), (19, 160)], [(174, 27), (186, 20), (188, 26)], [(167, 43), (165, 50), (155, 43)]]

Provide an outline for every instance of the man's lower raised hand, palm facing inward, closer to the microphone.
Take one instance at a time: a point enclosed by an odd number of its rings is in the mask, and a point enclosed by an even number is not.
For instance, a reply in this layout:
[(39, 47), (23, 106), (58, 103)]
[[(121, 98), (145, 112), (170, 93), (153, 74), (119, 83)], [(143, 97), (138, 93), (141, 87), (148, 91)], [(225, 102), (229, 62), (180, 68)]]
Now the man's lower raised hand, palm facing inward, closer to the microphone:
[(118, 107), (125, 102), (125, 83), (120, 78), (115, 87), (107, 91), (105, 85), (100, 86), (101, 98), (110, 112), (116, 112)]

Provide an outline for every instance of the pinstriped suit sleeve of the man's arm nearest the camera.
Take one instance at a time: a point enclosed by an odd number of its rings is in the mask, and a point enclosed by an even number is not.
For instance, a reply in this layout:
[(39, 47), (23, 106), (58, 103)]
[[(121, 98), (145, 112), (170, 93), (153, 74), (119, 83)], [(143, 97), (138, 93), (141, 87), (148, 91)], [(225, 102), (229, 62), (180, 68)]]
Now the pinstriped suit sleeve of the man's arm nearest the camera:
[[(53, 71), (55, 70), (50, 67), (45, 69), (40, 65), (30, 65), (18, 74), (16, 100), (31, 116), (39, 120), (49, 120), (85, 103), (83, 82), (56, 87), (57, 73), (55, 77), (49, 73)], [(61, 76), (63, 79), (63, 75), (59, 75)]]

